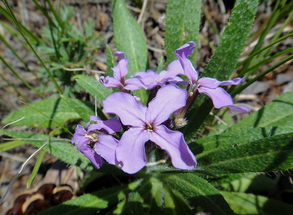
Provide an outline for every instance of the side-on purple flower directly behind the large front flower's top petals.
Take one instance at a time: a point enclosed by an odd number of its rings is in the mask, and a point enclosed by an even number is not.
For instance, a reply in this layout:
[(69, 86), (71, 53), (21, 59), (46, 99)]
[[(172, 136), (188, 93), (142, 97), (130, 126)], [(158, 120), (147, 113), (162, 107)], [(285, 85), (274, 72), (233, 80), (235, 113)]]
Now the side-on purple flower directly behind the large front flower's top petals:
[(152, 70), (147, 70), (146, 72), (135, 73), (133, 78), (138, 78), (147, 90), (154, 89), (157, 85), (163, 87), (166, 85), (166, 82), (169, 82), (170, 84), (188, 84), (188, 82), (184, 81), (177, 75), (184, 75), (179, 60), (169, 63), (167, 70), (163, 70), (159, 74)]

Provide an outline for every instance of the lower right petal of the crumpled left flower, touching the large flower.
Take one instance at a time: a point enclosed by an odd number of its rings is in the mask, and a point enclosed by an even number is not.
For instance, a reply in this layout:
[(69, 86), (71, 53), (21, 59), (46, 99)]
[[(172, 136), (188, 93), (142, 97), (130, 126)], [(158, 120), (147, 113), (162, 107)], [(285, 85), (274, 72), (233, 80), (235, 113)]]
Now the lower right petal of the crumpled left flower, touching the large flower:
[(115, 149), (118, 144), (116, 140), (111, 135), (99, 135), (98, 142), (96, 142), (95, 151), (101, 157), (103, 157), (109, 164), (118, 165)]

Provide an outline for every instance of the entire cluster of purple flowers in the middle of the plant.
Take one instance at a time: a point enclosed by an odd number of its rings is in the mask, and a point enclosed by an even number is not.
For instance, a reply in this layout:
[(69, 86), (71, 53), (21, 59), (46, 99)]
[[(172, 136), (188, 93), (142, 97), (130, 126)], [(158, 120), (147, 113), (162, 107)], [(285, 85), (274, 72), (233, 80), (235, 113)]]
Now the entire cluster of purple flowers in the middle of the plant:
[[(128, 59), (124, 53), (117, 51), (120, 57), (114, 68), (114, 77), (100, 77), (105, 87), (118, 87), (120, 92), (109, 95), (104, 101), (105, 113), (114, 113), (118, 118), (102, 121), (96, 116), (90, 117), (86, 130), (77, 125), (72, 145), (77, 142), (77, 149), (83, 153), (96, 168), (100, 168), (105, 159), (109, 164), (118, 165), (123, 171), (133, 174), (147, 164), (145, 147), (158, 146), (170, 156), (173, 166), (180, 169), (192, 170), (196, 167), (195, 156), (186, 144), (183, 134), (174, 130), (172, 120), (174, 113), (176, 121), (185, 121), (185, 114), (192, 106), (199, 93), (207, 94), (215, 108), (229, 107), (238, 112), (250, 109), (244, 105), (233, 104), (231, 96), (220, 85), (237, 85), (244, 78), (234, 78), (228, 81), (218, 81), (214, 78), (198, 79), (192, 63), (189, 61), (195, 47), (194, 42), (188, 42), (175, 51), (177, 60), (172, 61), (167, 70), (155, 73), (152, 70), (137, 72), (125, 80), (128, 73)], [(184, 81), (178, 75), (185, 75), (189, 81)], [(187, 86), (181, 89), (176, 84)], [(155, 97), (148, 107), (132, 95), (132, 90), (145, 88), (155, 89)], [(95, 122), (95, 123), (92, 123)], [(113, 135), (120, 132), (121, 124), (124, 133), (120, 140)], [(181, 123), (180, 126), (184, 124)], [(177, 126), (177, 127), (180, 127)], [(176, 129), (176, 128), (175, 128)]]

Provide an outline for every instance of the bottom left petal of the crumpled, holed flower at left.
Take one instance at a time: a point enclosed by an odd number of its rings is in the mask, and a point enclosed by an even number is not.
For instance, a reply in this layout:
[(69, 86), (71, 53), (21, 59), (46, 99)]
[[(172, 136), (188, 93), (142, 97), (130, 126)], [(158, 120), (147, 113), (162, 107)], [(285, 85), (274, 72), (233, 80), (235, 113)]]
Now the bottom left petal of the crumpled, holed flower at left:
[(93, 149), (91, 149), (91, 147), (85, 142), (79, 142), (76, 146), (76, 149), (84, 154), (97, 169), (103, 165), (103, 158), (98, 155)]

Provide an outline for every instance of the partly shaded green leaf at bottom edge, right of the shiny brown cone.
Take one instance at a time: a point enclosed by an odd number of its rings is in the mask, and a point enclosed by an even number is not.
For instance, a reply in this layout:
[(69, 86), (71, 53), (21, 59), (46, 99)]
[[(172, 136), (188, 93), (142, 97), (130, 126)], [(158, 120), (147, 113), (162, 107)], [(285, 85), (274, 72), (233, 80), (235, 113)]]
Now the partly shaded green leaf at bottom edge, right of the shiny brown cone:
[(101, 209), (107, 208), (125, 198), (131, 190), (137, 187), (139, 181), (128, 185), (99, 190), (90, 194), (85, 194), (75, 199), (51, 207), (38, 215), (80, 215), (96, 214)]

